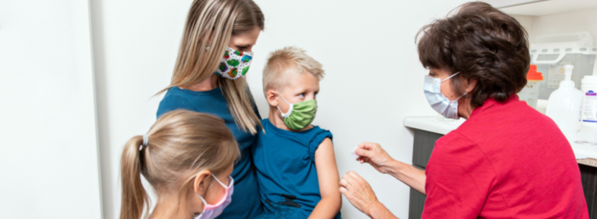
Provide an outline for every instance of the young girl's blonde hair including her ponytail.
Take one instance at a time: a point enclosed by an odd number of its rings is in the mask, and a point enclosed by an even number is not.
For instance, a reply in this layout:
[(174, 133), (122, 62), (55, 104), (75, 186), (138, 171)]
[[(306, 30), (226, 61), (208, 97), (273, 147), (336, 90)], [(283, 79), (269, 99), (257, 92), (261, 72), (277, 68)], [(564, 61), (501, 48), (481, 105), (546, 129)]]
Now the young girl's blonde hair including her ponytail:
[[(201, 170), (217, 175), (240, 156), (237, 142), (224, 121), (215, 116), (174, 110), (161, 116), (148, 132), (126, 142), (120, 159), (122, 203), (120, 219), (149, 214), (150, 200), (141, 175), (158, 192), (185, 192)], [(190, 177), (189, 177), (190, 173)], [(185, 177), (187, 177), (185, 179)]]

